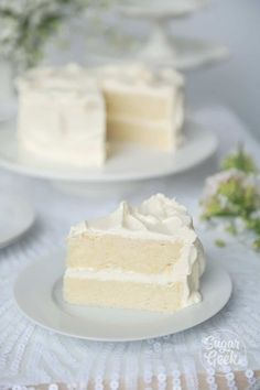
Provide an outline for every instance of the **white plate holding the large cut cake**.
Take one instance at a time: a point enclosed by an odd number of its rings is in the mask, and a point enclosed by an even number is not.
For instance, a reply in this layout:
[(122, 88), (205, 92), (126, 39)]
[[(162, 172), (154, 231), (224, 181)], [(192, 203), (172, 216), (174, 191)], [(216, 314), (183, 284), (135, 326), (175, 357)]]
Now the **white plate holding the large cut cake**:
[(209, 158), (217, 149), (217, 138), (202, 124), (188, 121), (186, 140), (176, 153), (164, 153), (134, 144), (112, 144), (111, 156), (104, 167), (73, 169), (21, 152), (14, 126), (0, 127), (0, 166), (30, 176), (53, 181), (80, 183), (108, 183), (140, 181), (178, 173)]

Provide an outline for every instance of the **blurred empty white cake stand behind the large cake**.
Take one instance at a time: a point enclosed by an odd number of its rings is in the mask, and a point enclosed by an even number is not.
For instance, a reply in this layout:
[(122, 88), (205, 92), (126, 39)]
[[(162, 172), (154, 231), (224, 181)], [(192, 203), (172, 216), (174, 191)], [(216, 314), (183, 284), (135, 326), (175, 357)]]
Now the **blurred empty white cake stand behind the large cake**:
[(181, 71), (215, 63), (228, 56), (228, 48), (198, 39), (177, 37), (167, 32), (174, 19), (187, 18), (206, 6), (209, 0), (164, 0), (142, 1), (119, 8), (126, 18), (142, 19), (152, 25), (150, 37), (137, 37), (137, 44), (126, 51), (118, 47), (102, 47), (101, 61), (133, 61), (133, 58), (155, 66), (173, 66)]

